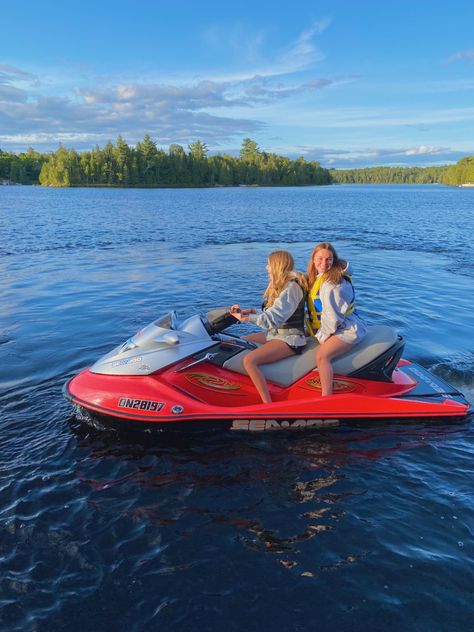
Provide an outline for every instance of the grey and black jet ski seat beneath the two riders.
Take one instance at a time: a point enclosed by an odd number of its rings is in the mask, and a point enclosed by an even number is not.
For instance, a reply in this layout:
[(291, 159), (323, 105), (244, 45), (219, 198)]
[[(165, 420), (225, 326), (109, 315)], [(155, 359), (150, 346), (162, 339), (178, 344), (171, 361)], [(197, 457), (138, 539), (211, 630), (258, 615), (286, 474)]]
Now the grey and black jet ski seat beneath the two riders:
[[(355, 373), (388, 351), (398, 340), (397, 334), (387, 325), (368, 327), (367, 335), (361, 342), (333, 361), (334, 374), (350, 375)], [(269, 382), (283, 387), (291, 386), (304, 375), (316, 369), (315, 350), (318, 344), (314, 338), (308, 338), (305, 350), (300, 355), (284, 358), (271, 364), (262, 364), (260, 368)], [(246, 375), (247, 372), (242, 365), (242, 360), (247, 353), (250, 353), (250, 350), (229, 358), (224, 362), (223, 368)]]

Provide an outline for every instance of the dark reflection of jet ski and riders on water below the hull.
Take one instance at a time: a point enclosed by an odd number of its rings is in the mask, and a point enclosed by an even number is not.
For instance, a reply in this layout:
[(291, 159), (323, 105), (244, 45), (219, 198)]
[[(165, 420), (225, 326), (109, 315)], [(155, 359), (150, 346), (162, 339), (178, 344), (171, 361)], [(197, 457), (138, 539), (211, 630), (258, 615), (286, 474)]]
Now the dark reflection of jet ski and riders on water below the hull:
[[(125, 511), (124, 515), (133, 516), (135, 523), (173, 525), (175, 532), (186, 538), (195, 537), (196, 530), (204, 525), (226, 527), (235, 532), (236, 541), (242, 546), (255, 553), (273, 554), (275, 562), (293, 569), (307, 565), (307, 558), (312, 558), (305, 550), (310, 540), (329, 531), (335, 532), (332, 535), (337, 538), (339, 522), (349, 519), (345, 506), (369, 493), (363, 478), (354, 479), (347, 470), (356, 464), (359, 468), (364, 462), (371, 465), (391, 458), (398, 452), (405, 454), (423, 446), (432, 447), (438, 441), (445, 443), (451, 437), (462, 436), (465, 424), (374, 424), (370, 430), (348, 427), (337, 433), (318, 433), (321, 436), (306, 433), (296, 438), (255, 440), (231, 439), (225, 433), (193, 438), (164, 435), (148, 438), (145, 443), (137, 439), (134, 444), (124, 443), (125, 436), (119, 439), (111, 435), (104, 440), (103, 433), (91, 432), (85, 426), (75, 431), (78, 446), (88, 446), (88, 459), (97, 459), (99, 469), (103, 459), (112, 457), (120, 459), (122, 467), (127, 464), (127, 473), (112, 479), (102, 476), (99, 480), (86, 480), (78, 473), (91, 493), (131, 484), (142, 491), (155, 490), (151, 505), (134, 504), (133, 509)], [(135, 467), (128, 471), (131, 463)], [(249, 489), (253, 490), (250, 503)], [(213, 501), (194, 506), (191, 498), (196, 490)], [(231, 498), (227, 498), (229, 492)], [(215, 493), (219, 502), (214, 502)], [(222, 494), (226, 496), (225, 505)], [(131, 496), (137, 498), (136, 490)], [(178, 499), (184, 503), (179, 508)], [(193, 528), (189, 521), (194, 523)], [(298, 572), (315, 576), (321, 570), (354, 563), (361, 555), (363, 552), (357, 550), (330, 564), (313, 560), (311, 568)]]

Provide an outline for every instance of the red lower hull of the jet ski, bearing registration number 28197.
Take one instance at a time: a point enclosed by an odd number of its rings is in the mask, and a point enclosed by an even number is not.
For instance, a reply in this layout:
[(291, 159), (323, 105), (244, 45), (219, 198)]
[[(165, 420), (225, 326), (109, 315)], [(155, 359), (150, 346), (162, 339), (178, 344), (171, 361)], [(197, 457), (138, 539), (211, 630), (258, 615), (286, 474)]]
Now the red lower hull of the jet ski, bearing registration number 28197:
[(458, 421), (473, 414), (462, 393), (407, 360), (398, 362), (391, 382), (335, 376), (331, 397), (321, 397), (318, 373), (311, 371), (289, 388), (270, 384), (273, 402), (265, 405), (246, 375), (208, 362), (187, 366), (146, 376), (85, 369), (65, 385), (64, 395), (102, 424), (154, 431), (309, 430), (346, 421)]

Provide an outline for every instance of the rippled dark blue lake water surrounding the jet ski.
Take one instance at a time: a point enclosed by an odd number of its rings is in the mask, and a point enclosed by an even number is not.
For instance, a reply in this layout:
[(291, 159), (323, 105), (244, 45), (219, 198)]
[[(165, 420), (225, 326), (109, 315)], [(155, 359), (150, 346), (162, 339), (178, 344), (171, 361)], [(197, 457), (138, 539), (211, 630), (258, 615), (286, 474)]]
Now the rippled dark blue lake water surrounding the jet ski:
[(0, 187), (0, 629), (471, 630), (472, 422), (132, 442), (61, 388), (330, 240), (365, 318), (474, 402), (473, 229), (441, 186)]

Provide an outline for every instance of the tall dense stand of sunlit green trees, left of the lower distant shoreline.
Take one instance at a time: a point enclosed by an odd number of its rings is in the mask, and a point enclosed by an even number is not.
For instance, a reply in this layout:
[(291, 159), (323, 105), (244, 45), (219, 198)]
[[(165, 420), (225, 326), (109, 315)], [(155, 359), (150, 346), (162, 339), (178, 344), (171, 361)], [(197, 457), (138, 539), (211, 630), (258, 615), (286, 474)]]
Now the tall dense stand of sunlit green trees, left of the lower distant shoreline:
[(208, 155), (200, 140), (187, 151), (177, 144), (168, 151), (158, 148), (148, 134), (131, 147), (119, 136), (115, 145), (80, 154), (59, 147), (43, 163), (39, 174), (43, 186), (210, 187), (236, 185), (292, 186), (329, 184), (327, 169), (303, 158), (291, 160), (261, 151), (244, 139), (238, 157)]

